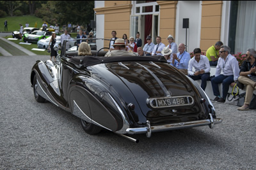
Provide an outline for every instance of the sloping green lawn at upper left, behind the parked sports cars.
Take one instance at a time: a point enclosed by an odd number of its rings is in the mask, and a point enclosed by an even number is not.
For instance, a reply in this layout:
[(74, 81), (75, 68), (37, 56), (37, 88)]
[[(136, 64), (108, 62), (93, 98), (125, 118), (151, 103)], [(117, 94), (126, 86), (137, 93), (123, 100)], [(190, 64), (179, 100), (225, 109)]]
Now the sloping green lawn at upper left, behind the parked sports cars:
[(19, 17), (3, 17), (0, 18), (0, 31), (4, 32), (4, 21), (7, 20), (8, 23), (8, 32), (19, 31), (20, 25), (22, 24), (23, 27), (26, 27), (25, 24), (28, 22), (29, 27), (35, 27), (37, 22), (37, 27), (42, 27), (44, 21), (42, 18), (35, 17), (33, 15), (24, 15)]

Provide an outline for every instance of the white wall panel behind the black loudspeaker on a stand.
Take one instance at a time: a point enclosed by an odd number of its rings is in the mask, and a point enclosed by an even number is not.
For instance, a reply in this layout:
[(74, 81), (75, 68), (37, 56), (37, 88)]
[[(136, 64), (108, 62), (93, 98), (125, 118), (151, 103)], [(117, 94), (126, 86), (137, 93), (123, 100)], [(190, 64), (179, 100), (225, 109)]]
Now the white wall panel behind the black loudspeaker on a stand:
[(176, 13), (175, 43), (186, 45), (186, 29), (182, 28), (183, 18), (189, 18), (187, 29), (187, 51), (200, 47), (202, 1), (178, 1)]

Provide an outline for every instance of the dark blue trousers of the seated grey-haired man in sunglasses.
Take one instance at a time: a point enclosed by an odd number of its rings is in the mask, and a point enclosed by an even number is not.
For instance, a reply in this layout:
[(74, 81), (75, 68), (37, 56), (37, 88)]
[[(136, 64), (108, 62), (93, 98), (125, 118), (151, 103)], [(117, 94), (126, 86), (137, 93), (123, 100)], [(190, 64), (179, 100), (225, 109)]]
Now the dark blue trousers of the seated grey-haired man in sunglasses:
[(212, 90), (214, 96), (220, 96), (219, 91), (219, 83), (222, 83), (222, 98), (226, 99), (228, 94), (229, 85), (234, 82), (234, 76), (224, 76), (223, 74), (220, 74), (220, 76), (216, 76), (211, 79), (212, 83)]

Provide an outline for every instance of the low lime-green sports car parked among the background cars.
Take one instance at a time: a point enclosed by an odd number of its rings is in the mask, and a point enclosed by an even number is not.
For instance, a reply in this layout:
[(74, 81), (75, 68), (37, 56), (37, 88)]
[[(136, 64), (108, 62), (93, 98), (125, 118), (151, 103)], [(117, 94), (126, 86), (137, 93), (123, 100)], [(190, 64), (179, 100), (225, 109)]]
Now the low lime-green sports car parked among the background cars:
[(23, 41), (28, 43), (37, 43), (40, 39), (46, 39), (52, 35), (49, 31), (34, 31), (31, 34), (24, 34)]

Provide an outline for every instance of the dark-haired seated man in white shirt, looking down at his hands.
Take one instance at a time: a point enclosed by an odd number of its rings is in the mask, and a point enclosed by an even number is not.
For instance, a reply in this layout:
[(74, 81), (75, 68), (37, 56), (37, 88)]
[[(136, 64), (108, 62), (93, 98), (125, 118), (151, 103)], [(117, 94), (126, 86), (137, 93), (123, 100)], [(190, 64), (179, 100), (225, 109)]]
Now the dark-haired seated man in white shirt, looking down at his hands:
[[(195, 72), (192, 71), (193, 67)], [(201, 55), (201, 49), (195, 48), (194, 57), (189, 60), (188, 76), (193, 80), (202, 80), (201, 88), (205, 90), (207, 80), (210, 78), (210, 63), (206, 56)]]

